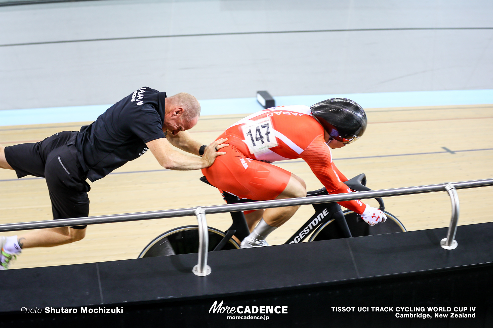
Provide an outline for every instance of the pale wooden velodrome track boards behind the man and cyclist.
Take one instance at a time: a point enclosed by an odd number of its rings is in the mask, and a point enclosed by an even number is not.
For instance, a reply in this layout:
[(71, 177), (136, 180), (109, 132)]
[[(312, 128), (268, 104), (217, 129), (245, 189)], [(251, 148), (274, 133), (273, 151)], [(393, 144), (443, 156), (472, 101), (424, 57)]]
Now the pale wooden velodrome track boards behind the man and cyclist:
[[(370, 188), (386, 189), (493, 177), (493, 105), (373, 108), (366, 112), (369, 125), (364, 137), (332, 152), (335, 164), (348, 178), (366, 173)], [(190, 132), (206, 144), (244, 116), (206, 116)], [(36, 142), (85, 124), (0, 127), (0, 143), (10, 146)], [(277, 165), (302, 177), (309, 190), (321, 187), (303, 161)], [(201, 176), (200, 171), (165, 170), (147, 152), (91, 184), (90, 215), (224, 203), (216, 190), (199, 181)], [(458, 195), (459, 224), (493, 220), (493, 187), (459, 190)], [(387, 210), (408, 230), (449, 224), (451, 206), (445, 192), (387, 197), (385, 201)], [(0, 208), (0, 223), (52, 218), (44, 179), (28, 176), (17, 180), (11, 170), (0, 170)], [(282, 244), (312, 212), (311, 206), (300, 208), (269, 236), (268, 242)], [(231, 222), (227, 213), (208, 215), (207, 219), (209, 226), (221, 230)], [(132, 259), (158, 234), (193, 224), (195, 217), (89, 226), (85, 239), (79, 242), (24, 250), (12, 268)]]

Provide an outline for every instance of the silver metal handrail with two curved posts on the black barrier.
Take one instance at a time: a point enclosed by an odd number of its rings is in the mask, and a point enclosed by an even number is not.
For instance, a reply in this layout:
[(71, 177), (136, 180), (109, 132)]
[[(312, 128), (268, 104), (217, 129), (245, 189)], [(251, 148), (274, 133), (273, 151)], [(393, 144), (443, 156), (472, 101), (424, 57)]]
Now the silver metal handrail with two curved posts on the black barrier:
[(173, 210), (116, 214), (116, 215), (102, 215), (102, 216), (85, 217), (85, 218), (10, 223), (10, 224), (0, 225), (0, 232), (31, 230), (31, 229), (41, 229), (41, 228), (57, 228), (57, 227), (68, 227), (68, 226), (73, 227), (73, 226), (94, 225), (94, 224), (103, 224), (103, 223), (163, 219), (163, 218), (195, 215), (199, 223), (199, 255), (198, 255), (199, 259), (198, 259), (198, 264), (194, 266), (192, 272), (198, 276), (207, 276), (208, 274), (211, 273), (211, 267), (207, 265), (207, 252), (209, 248), (209, 232), (207, 229), (206, 214), (246, 211), (246, 210), (255, 210), (255, 209), (272, 208), (272, 207), (294, 206), (294, 205), (319, 204), (325, 202), (338, 202), (338, 201), (346, 201), (353, 199), (367, 199), (367, 198), (402, 196), (402, 195), (447, 191), (449, 196), (451, 197), (451, 202), (452, 202), (452, 219), (450, 222), (449, 230), (447, 232), (447, 238), (442, 239), (440, 244), (445, 249), (454, 249), (457, 247), (457, 241), (454, 240), (454, 238), (457, 231), (458, 214), (459, 214), (459, 202), (458, 202), (458, 195), (456, 189), (477, 188), (477, 187), (486, 187), (486, 186), (493, 186), (493, 179), (470, 180), (470, 181), (461, 181), (461, 182), (453, 182), (453, 183), (440, 183), (440, 184), (426, 185), (426, 186), (372, 190), (372, 191), (345, 193), (345, 194), (337, 194), (337, 195), (265, 200), (265, 201), (256, 201), (256, 202), (239, 203), (239, 204), (212, 205), (212, 206), (204, 206), (204, 207), (179, 208)]

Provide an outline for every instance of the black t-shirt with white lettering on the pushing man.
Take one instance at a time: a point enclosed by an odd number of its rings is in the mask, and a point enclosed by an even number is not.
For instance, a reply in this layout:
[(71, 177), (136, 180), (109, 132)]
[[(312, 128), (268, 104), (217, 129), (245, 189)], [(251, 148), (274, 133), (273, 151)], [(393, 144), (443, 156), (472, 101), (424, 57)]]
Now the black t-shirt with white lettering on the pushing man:
[(99, 180), (147, 151), (146, 142), (164, 138), (165, 92), (142, 87), (80, 128), (78, 159), (87, 178)]

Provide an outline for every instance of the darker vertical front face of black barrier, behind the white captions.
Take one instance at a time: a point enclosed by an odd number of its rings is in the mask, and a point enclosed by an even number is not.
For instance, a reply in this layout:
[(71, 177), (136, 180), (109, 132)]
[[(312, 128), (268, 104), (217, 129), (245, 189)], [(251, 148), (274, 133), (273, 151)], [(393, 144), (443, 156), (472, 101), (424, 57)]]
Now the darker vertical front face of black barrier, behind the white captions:
[[(490, 263), (269, 293), (88, 307), (123, 308), (122, 314), (81, 314), (80, 310), (75, 315), (4, 313), (0, 323), (2, 327), (491, 328), (492, 279)], [(262, 306), (272, 307), (263, 312), (272, 309), (274, 313), (226, 313), (233, 307), (241, 312), (249, 307), (251, 312)]]

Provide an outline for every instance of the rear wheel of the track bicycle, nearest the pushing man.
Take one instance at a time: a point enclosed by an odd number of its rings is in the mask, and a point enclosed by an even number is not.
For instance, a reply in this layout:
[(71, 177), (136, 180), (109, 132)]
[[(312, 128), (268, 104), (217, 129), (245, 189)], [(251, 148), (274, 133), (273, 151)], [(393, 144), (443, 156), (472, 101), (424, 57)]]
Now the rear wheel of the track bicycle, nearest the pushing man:
[[(221, 230), (207, 227), (209, 230), (209, 249), (211, 252), (224, 237)], [(230, 238), (221, 250), (238, 249), (240, 245)], [(169, 256), (199, 252), (199, 226), (184, 226), (166, 231), (154, 238), (139, 255), (141, 258)]]

